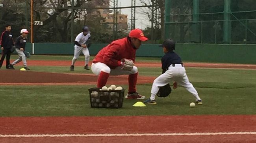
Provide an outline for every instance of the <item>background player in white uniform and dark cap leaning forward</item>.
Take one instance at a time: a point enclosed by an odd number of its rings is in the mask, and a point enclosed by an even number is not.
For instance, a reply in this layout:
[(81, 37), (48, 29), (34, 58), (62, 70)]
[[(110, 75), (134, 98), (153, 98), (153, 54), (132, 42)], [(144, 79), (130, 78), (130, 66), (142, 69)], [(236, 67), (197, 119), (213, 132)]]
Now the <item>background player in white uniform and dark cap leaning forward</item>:
[(74, 57), (71, 62), (70, 71), (74, 71), (74, 64), (76, 60), (78, 59), (81, 52), (83, 52), (83, 55), (85, 56), (85, 66), (84, 69), (89, 70), (89, 60), (90, 60), (90, 53), (89, 53), (89, 47), (90, 47), (90, 38), (91, 38), (91, 32), (89, 31), (89, 27), (84, 26), (83, 32), (79, 33), (76, 36), (75, 39), (75, 46), (74, 46)]

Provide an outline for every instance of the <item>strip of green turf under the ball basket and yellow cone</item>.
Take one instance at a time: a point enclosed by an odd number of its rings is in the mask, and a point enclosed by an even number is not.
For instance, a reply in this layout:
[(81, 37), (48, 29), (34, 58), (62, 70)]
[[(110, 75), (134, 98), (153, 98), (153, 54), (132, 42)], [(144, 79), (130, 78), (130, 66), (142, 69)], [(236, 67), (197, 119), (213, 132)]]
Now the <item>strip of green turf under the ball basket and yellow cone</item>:
[[(0, 96), (0, 116), (256, 114), (255, 88), (197, 88), (204, 105), (195, 108), (189, 108), (194, 98), (184, 88), (178, 88), (170, 98), (157, 98), (157, 105), (132, 107), (137, 100), (124, 100), (122, 109), (95, 109), (89, 103), (90, 87), (2, 86), (0, 91), (5, 94)], [(149, 95), (150, 86), (139, 85), (138, 90)]]

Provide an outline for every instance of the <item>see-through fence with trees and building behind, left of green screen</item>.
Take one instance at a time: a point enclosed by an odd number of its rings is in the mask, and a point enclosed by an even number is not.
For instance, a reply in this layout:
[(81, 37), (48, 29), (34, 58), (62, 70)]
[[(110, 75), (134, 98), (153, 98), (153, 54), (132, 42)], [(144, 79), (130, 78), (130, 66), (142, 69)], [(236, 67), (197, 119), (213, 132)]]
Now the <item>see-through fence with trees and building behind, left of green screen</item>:
[(0, 28), (12, 24), (14, 37), (22, 28), (33, 30), (28, 37), (33, 43), (72, 43), (83, 25), (90, 27), (94, 43), (109, 43), (139, 28), (154, 43), (164, 32), (159, 9), (151, 0), (0, 0)]

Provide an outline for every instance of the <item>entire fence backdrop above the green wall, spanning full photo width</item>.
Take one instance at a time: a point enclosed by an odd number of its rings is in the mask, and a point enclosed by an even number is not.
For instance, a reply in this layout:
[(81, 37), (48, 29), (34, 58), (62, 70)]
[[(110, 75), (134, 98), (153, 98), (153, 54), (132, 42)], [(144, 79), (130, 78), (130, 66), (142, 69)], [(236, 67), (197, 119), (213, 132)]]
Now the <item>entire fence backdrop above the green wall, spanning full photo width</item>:
[(10, 23), (17, 37), (33, 25), (36, 43), (73, 42), (83, 25), (95, 43), (125, 37), (133, 28), (143, 29), (145, 43), (256, 43), (254, 0), (0, 0), (0, 11), (0, 29)]

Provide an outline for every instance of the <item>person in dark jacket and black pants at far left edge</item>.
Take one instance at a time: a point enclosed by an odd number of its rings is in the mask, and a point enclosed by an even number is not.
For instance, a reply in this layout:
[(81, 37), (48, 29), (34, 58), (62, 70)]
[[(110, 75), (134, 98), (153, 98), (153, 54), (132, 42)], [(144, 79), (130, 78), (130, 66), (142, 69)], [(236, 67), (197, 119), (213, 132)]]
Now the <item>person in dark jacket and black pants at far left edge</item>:
[(11, 34), (11, 25), (6, 24), (6, 30), (1, 34), (0, 47), (2, 51), (2, 57), (0, 60), (0, 69), (3, 65), (4, 58), (6, 57), (6, 69), (9, 69), (11, 48), (13, 47), (13, 34)]

